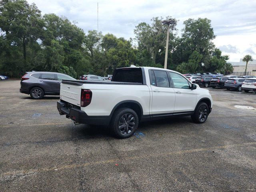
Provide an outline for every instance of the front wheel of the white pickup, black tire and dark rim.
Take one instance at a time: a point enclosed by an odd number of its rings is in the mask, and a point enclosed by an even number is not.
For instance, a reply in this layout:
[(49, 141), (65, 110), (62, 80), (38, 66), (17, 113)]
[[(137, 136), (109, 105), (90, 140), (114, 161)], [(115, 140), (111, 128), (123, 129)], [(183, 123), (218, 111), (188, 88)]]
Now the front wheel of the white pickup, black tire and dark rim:
[(204, 123), (208, 118), (208, 115), (209, 115), (208, 105), (204, 102), (200, 102), (196, 107), (194, 114), (191, 116), (191, 119), (194, 123)]

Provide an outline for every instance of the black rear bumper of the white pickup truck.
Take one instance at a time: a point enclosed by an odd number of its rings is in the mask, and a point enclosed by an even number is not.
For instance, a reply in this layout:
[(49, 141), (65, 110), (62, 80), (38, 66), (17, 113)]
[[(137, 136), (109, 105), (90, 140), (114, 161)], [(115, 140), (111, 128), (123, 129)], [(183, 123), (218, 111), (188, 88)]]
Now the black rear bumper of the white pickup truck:
[(57, 101), (57, 108), (60, 115), (66, 115), (66, 118), (70, 118), (76, 123), (92, 125), (109, 125), (110, 123), (110, 116), (88, 116), (86, 112), (78, 108), (68, 108), (66, 102)]

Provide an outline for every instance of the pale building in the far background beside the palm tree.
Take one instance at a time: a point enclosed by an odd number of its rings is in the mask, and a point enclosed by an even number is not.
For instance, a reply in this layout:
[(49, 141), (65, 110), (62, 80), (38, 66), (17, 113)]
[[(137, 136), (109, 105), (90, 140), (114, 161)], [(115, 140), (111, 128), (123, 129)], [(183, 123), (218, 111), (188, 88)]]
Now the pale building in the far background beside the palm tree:
[[(234, 71), (234, 75), (243, 75), (246, 67), (246, 62), (243, 62), (243, 59), (240, 59), (239, 62), (229, 62), (232, 64)], [(248, 72), (248, 73), (247, 73)], [(246, 75), (256, 75), (256, 60), (252, 60), (248, 62)]]

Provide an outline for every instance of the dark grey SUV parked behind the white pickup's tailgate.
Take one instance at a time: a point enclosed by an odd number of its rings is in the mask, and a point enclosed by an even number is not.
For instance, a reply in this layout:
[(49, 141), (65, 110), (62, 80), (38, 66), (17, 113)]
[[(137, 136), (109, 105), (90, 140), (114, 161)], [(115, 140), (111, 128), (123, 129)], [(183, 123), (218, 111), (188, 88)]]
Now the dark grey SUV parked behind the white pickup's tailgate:
[(45, 95), (59, 95), (62, 80), (76, 79), (56, 72), (27, 72), (21, 77), (20, 92), (30, 94), (33, 99), (42, 99)]

